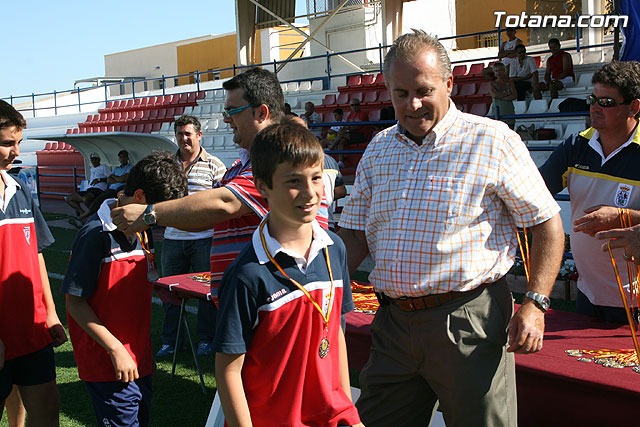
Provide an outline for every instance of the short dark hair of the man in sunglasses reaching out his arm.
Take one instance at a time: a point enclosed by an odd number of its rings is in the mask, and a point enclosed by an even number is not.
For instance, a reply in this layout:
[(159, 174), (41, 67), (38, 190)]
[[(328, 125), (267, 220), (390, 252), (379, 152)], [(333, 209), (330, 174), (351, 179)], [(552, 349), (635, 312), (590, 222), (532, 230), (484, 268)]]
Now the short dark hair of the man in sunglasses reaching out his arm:
[(273, 121), (284, 115), (284, 95), (278, 78), (262, 68), (252, 68), (222, 84), (225, 90), (243, 89), (244, 99), (250, 105), (265, 104)]

